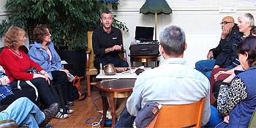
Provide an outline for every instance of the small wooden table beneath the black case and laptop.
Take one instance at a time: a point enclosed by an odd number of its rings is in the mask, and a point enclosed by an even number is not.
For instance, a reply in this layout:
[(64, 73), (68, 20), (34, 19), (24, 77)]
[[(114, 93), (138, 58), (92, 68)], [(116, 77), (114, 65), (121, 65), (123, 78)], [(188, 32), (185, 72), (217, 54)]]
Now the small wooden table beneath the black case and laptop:
[(134, 61), (139, 61), (143, 64), (143, 66), (148, 66), (150, 61), (154, 62), (154, 67), (158, 67), (159, 66), (159, 56), (161, 55), (149, 55), (149, 56), (139, 56), (139, 55), (128, 55), (130, 57), (130, 63), (131, 63), (131, 67), (133, 67), (133, 62)]

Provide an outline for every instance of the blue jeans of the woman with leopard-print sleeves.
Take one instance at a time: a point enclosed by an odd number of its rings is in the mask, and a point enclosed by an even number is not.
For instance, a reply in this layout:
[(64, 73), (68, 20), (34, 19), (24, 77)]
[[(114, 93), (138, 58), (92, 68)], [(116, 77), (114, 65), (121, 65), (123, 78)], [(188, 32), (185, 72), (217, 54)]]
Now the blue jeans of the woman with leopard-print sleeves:
[(211, 116), (208, 123), (204, 127), (216, 127), (223, 122), (223, 116), (219, 113), (219, 110), (211, 105)]

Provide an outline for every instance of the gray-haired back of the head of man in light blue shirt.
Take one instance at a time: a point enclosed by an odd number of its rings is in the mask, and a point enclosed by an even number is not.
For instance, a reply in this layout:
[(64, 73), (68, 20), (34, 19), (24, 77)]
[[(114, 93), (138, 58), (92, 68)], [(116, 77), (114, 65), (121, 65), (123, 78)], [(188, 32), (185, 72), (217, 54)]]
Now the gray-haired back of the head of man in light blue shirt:
[(160, 44), (167, 55), (184, 53), (186, 37), (184, 30), (178, 26), (166, 26), (159, 34)]

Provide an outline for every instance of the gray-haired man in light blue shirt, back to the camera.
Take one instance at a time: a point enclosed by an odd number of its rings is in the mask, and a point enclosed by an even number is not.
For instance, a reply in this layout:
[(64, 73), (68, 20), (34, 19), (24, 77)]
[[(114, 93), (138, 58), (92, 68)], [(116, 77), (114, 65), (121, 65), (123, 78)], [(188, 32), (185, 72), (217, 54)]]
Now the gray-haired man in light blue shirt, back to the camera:
[(189, 67), (183, 59), (187, 48), (184, 31), (178, 26), (167, 26), (160, 32), (159, 39), (159, 51), (165, 61), (159, 67), (146, 70), (138, 76), (132, 95), (127, 100), (127, 109), (116, 127), (130, 127), (124, 122), (128, 118), (127, 112), (128, 115), (137, 116), (146, 102), (179, 105), (197, 102), (203, 97), (206, 97), (206, 103), (202, 123), (205, 125), (208, 122), (210, 84), (202, 73)]

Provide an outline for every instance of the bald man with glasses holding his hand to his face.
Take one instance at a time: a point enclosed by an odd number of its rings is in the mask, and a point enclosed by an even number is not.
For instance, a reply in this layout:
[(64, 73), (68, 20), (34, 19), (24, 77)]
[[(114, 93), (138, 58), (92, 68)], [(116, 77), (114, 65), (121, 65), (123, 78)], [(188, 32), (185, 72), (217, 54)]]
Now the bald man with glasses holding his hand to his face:
[(195, 64), (195, 69), (206, 75), (209, 80), (211, 78), (211, 70), (214, 68), (222, 67), (232, 69), (236, 67), (233, 66), (233, 61), (230, 60), (232, 56), (227, 59), (226, 56), (223, 56), (223, 52), (230, 48), (226, 47), (227, 45), (240, 42), (243, 35), (239, 32), (238, 26), (234, 23), (234, 18), (231, 16), (223, 18), (220, 24), (222, 25), (222, 35), (219, 45), (217, 48), (209, 50), (207, 60), (197, 61)]

